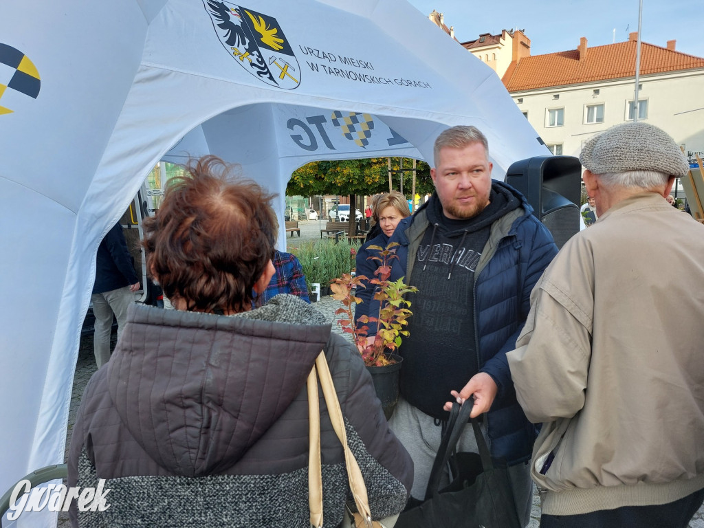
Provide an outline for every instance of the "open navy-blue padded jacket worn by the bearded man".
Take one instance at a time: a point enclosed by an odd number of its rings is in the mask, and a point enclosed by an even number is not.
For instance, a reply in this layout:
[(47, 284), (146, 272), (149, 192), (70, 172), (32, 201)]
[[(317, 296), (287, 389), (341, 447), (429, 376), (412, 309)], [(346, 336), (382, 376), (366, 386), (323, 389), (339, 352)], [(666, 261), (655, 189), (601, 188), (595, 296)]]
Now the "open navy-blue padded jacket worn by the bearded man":
[[(531, 291), (558, 248), (522, 194), (503, 182), (495, 180), (492, 185), (509, 189), (522, 206), (491, 225), (489, 241), (474, 273), (475, 348), (479, 351), (479, 372), (489, 374), (498, 387), (494, 404), (484, 415), (491, 454), (515, 464), (530, 458), (536, 429), (516, 400), (506, 353), (515, 348), (530, 310)], [(430, 198), (436, 199), (435, 194)], [(432, 227), (427, 219), (428, 204), (401, 220), (391, 236), (390, 241), (401, 244), (391, 280), (405, 276), (408, 282), (411, 277), (423, 234)]]

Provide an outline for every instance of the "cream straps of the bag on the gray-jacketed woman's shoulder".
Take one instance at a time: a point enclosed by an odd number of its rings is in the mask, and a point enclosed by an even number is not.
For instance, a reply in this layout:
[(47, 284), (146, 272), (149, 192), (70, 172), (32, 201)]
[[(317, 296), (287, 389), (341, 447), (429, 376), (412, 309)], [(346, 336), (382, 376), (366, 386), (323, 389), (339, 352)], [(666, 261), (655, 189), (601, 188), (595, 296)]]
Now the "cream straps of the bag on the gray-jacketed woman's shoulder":
[[(340, 402), (337, 399), (337, 392), (332, 383), (332, 375), (330, 375), (327, 360), (325, 359), (325, 351), (321, 351), (318, 358), (315, 359), (315, 366), (308, 375), (308, 413), (310, 414), (308, 426), (310, 437), (308, 488), (310, 491), (308, 502), (310, 503), (310, 524), (316, 528), (322, 527), (322, 469), (320, 463), (318, 376), (320, 377), (320, 387), (322, 388), (322, 395), (325, 397), (325, 405), (327, 406), (327, 411), (330, 416), (330, 422), (332, 422), (332, 428), (344, 449), (347, 479), (355, 504), (357, 505), (357, 511), (362, 515), (367, 528), (372, 528), (372, 514), (367, 499), (367, 487), (364, 484), (364, 478), (359, 464), (347, 444), (344, 418), (342, 417)], [(313, 413), (315, 413), (315, 418), (313, 418)], [(313, 456), (313, 450), (315, 450), (317, 456)], [(313, 463), (313, 466), (311, 463)], [(315, 471), (315, 474), (312, 474), (313, 471)]]

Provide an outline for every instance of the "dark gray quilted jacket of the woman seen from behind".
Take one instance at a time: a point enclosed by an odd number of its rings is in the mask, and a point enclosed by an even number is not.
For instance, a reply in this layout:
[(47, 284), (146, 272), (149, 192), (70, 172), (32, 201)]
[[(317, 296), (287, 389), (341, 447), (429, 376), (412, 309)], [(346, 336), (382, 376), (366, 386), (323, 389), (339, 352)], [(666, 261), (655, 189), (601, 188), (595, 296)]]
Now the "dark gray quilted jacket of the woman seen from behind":
[[(110, 489), (81, 527), (310, 527), (306, 378), (325, 348), (372, 516), (403, 509), (413, 463), (356, 350), (313, 306), (279, 295), (232, 317), (134, 305), (88, 383), (69, 486)], [(325, 527), (351, 495), (320, 393)]]

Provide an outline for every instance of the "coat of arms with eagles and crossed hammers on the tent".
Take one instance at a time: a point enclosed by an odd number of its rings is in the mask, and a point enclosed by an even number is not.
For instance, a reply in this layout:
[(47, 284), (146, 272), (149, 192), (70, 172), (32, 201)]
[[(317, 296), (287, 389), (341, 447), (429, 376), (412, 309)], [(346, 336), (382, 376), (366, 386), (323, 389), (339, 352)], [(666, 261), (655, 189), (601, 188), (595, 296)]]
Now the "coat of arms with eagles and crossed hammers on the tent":
[(301, 68), (277, 20), (229, 2), (203, 0), (213, 28), (232, 58), (258, 80), (294, 89)]

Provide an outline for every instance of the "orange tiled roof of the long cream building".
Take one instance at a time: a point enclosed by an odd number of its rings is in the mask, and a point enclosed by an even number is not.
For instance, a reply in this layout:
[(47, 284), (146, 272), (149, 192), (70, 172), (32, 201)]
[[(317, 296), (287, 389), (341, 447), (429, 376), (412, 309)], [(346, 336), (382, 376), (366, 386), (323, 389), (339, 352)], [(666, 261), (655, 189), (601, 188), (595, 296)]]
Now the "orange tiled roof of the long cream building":
[[(641, 42), (641, 75), (704, 68), (704, 58)], [(509, 92), (564, 86), (636, 75), (636, 42), (617, 42), (586, 49), (579, 60), (579, 49), (521, 58), (504, 75)]]

